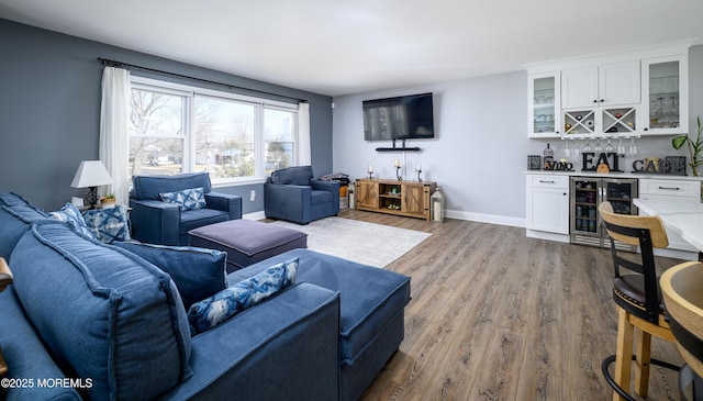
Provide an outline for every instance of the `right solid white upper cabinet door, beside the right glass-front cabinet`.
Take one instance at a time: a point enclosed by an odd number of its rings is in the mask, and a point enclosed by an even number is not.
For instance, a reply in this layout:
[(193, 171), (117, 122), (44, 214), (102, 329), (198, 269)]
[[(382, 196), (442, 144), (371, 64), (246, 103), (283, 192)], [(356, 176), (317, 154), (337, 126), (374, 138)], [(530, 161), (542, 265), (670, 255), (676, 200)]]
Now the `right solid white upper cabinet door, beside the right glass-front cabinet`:
[(641, 80), (638, 60), (600, 66), (598, 81), (599, 105), (639, 103)]

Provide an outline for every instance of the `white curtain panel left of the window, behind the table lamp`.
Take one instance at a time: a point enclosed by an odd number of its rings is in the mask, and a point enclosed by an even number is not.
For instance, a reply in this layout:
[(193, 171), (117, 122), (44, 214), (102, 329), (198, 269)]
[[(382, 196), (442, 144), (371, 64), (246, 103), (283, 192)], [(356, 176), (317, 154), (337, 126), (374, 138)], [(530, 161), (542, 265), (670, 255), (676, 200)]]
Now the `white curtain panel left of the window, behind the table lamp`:
[(130, 70), (105, 67), (102, 73), (99, 157), (112, 176), (112, 188), (101, 188), (100, 193), (114, 192), (118, 204), (129, 203), (127, 124), (131, 97)]

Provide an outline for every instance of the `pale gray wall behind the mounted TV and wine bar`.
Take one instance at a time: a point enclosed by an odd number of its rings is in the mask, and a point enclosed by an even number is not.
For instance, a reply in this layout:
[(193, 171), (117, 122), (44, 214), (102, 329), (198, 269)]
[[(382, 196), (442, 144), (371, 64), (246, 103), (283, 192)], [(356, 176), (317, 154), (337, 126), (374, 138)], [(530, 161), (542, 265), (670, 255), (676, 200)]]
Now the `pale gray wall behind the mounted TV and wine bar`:
[[(703, 114), (703, 46), (689, 57), (690, 132)], [(413, 141), (421, 153), (377, 153), (390, 143), (364, 141), (361, 101), (432, 91), (435, 93), (436, 138)], [(334, 98), (334, 170), (364, 177), (372, 164), (382, 178), (394, 178), (393, 160), (408, 166), (406, 179), (416, 179), (422, 163), (426, 180), (444, 189), (449, 216), (524, 225), (526, 155), (542, 155), (547, 141), (527, 138), (527, 73), (515, 71), (457, 81)], [(671, 137), (638, 140), (639, 155), (684, 155), (671, 147)], [(550, 141), (563, 157), (561, 141)], [(593, 144), (592, 144), (593, 145)], [(635, 158), (621, 166), (632, 166)], [(580, 169), (580, 161), (577, 169)]]

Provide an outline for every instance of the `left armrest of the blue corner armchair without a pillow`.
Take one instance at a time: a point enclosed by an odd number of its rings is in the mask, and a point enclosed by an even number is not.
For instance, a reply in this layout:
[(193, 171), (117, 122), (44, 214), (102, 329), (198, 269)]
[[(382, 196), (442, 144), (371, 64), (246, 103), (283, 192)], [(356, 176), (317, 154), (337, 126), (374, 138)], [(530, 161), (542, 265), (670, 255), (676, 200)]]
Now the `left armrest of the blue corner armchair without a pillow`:
[(267, 218), (292, 222), (309, 222), (311, 215), (312, 187), (265, 183), (264, 212)]

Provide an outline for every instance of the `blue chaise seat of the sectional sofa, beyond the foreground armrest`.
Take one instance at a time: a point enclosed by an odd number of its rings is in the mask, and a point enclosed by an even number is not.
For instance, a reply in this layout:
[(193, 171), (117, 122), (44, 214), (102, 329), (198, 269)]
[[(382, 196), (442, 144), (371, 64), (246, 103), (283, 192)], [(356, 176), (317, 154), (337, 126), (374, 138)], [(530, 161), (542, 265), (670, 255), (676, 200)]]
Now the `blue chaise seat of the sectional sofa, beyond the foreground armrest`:
[(357, 400), (405, 336), (410, 277), (308, 249), (293, 249), (227, 276), (230, 285), (298, 257), (297, 281), (339, 291), (339, 399)]

